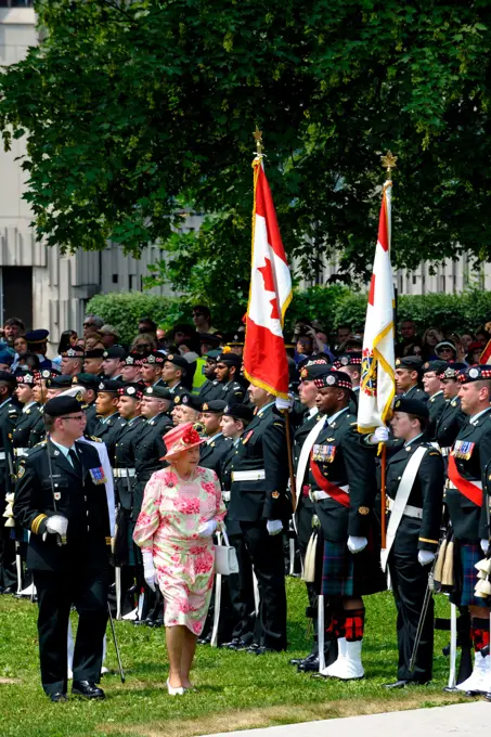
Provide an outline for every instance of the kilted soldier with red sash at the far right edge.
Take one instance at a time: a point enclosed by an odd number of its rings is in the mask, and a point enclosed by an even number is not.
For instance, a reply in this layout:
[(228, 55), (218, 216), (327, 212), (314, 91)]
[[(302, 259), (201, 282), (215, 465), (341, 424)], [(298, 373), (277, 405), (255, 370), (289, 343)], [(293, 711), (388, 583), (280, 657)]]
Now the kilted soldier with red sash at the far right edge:
[(489, 598), (476, 596), (476, 564), (488, 551), (489, 532), (483, 525), (482, 480), (491, 458), (491, 365), (468, 366), (458, 374), (460, 398), (468, 422), (462, 426), (449, 455), (445, 502), (458, 548), (457, 606), (468, 606), (476, 650), (469, 678), (456, 688), (470, 694), (491, 689), (489, 648)]

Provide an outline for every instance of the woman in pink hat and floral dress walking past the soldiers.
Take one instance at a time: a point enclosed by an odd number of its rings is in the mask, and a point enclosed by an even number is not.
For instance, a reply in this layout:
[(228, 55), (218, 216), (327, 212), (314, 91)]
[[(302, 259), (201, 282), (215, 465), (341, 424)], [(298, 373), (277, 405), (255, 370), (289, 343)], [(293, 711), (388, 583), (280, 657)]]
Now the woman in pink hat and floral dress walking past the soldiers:
[(192, 423), (167, 432), (163, 460), (169, 467), (146, 484), (133, 533), (145, 581), (154, 590), (158, 584), (165, 599), (172, 696), (192, 688), (190, 670), (214, 585), (212, 535), (225, 516), (217, 475), (197, 465), (202, 442)]

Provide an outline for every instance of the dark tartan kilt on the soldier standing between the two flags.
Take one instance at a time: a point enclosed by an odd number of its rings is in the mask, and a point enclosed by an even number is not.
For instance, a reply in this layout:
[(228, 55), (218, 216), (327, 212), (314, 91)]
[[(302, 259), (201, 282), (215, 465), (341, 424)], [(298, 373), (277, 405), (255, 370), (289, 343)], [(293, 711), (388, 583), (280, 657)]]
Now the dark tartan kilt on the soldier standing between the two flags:
[(324, 541), (321, 589), (324, 596), (369, 596), (386, 589), (376, 530), (372, 528), (367, 546), (356, 555), (349, 552), (347, 541)]

